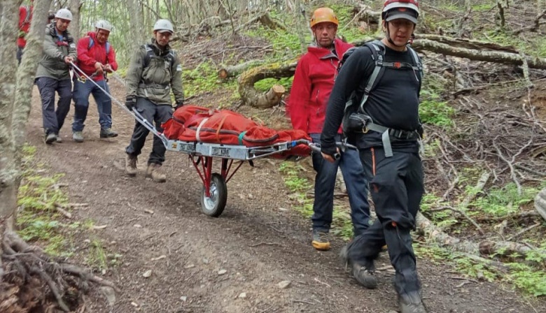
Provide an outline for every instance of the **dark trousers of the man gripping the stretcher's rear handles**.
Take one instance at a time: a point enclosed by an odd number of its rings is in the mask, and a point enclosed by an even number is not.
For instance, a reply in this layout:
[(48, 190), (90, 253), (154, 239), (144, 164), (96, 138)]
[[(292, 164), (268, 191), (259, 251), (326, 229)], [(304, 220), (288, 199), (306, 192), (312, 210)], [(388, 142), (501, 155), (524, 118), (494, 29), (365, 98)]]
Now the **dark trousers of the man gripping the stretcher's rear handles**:
[[(157, 105), (148, 99), (137, 97), (137, 103), (134, 105), (137, 112), (144, 117), (148, 122), (155, 123), (155, 129), (159, 132), (163, 132), (161, 124), (167, 122), (167, 119), (172, 117), (173, 108), (172, 105)], [(137, 157), (142, 152), (142, 147), (146, 143), (146, 136), (148, 136), (148, 129), (144, 125), (137, 121), (134, 121), (134, 130), (131, 137), (131, 143), (125, 148), (127, 154), (131, 154)], [(152, 152), (148, 158), (148, 164), (157, 163), (162, 164), (165, 161), (165, 145), (158, 136), (153, 135)]]

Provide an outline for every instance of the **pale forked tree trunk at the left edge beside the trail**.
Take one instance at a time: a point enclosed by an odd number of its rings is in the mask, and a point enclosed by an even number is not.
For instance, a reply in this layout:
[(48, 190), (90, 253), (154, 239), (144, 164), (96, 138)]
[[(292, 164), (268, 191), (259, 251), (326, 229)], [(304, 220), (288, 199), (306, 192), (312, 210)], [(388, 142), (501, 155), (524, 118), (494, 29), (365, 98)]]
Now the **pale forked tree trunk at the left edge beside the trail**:
[[(15, 58), (18, 7), (21, 0), (3, 0), (0, 21), (0, 240), (13, 229), (21, 181), (21, 150), (31, 107), (34, 75), (42, 55), (45, 23), (51, 0), (34, 1), (27, 46), (19, 67)], [(15, 96), (17, 94), (17, 97)], [(3, 252), (0, 245), (0, 252)], [(2, 268), (0, 266), (0, 280)]]

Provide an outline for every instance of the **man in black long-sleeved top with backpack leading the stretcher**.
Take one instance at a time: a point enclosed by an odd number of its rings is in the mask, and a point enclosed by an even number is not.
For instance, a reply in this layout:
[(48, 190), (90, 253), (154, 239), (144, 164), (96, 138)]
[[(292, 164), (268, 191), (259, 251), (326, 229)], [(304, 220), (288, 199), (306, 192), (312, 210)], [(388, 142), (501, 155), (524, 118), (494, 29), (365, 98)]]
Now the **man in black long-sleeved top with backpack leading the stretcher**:
[[(384, 3), (382, 26), (386, 36), (381, 41), (384, 63), (409, 66), (384, 68), (359, 109), (372, 123), (363, 127), (363, 131), (349, 134), (349, 139), (358, 147), (378, 219), (341, 253), (344, 260), (351, 263), (356, 280), (373, 289), (377, 287), (374, 259), (386, 244), (395, 268), (394, 286), (402, 313), (426, 312), (419, 294), (421, 284), (409, 234), (415, 228), (424, 190), (418, 141), (421, 75), (411, 66), (414, 60), (412, 51), (407, 48), (418, 17), (416, 0), (386, 0)], [(334, 138), (342, 124), (345, 103), (353, 92), (362, 94), (360, 86), (370, 78), (376, 66), (372, 50), (364, 47), (355, 50), (339, 71), (321, 134), (324, 159), (334, 161), (332, 156), (337, 152)]]

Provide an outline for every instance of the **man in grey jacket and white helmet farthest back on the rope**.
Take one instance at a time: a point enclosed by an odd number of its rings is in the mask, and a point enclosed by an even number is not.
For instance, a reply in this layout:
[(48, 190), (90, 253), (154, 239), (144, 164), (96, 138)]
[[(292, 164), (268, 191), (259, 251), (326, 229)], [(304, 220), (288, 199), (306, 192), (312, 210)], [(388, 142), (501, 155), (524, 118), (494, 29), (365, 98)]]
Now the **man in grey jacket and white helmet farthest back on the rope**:
[[(68, 30), (72, 13), (62, 8), (45, 29), (43, 57), (36, 70), (36, 85), (42, 99), (44, 141), (48, 145), (60, 142), (59, 131), (70, 110), (72, 82), (70, 64), (76, 59), (76, 43)], [(55, 110), (55, 92), (59, 94)]]

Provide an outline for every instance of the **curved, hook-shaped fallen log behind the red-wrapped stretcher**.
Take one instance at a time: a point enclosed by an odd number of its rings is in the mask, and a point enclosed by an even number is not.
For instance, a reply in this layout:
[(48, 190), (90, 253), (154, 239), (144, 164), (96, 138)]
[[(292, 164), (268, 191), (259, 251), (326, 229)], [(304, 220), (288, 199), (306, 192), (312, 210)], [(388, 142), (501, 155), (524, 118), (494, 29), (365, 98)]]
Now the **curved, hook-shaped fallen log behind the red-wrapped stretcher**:
[(287, 78), (294, 75), (296, 62), (288, 64), (267, 64), (251, 68), (239, 75), (237, 82), (239, 83), (239, 95), (243, 103), (256, 108), (271, 108), (278, 105), (281, 101), (281, 96), (284, 94), (284, 87), (280, 85), (273, 86), (268, 92), (258, 92), (254, 88), (255, 82), (265, 78)]

